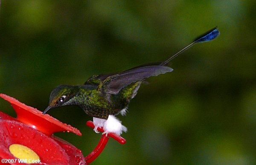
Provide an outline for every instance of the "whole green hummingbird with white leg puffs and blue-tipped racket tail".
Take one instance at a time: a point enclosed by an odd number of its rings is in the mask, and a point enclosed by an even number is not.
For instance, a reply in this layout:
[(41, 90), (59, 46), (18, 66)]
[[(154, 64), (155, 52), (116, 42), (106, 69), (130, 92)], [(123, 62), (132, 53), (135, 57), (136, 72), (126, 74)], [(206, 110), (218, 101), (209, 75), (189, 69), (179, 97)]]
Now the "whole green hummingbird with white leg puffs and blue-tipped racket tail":
[(86, 114), (93, 117), (94, 131), (103, 127), (102, 134), (122, 134), (127, 128), (116, 118), (116, 115), (125, 115), (128, 104), (133, 99), (140, 85), (149, 77), (173, 71), (166, 66), (170, 60), (193, 46), (218, 37), (217, 27), (212, 28), (193, 40), (185, 48), (174, 54), (166, 61), (140, 65), (135, 68), (115, 74), (98, 74), (90, 77), (83, 85), (58, 85), (49, 97), (49, 106), (43, 114), (52, 108), (65, 105), (78, 105)]

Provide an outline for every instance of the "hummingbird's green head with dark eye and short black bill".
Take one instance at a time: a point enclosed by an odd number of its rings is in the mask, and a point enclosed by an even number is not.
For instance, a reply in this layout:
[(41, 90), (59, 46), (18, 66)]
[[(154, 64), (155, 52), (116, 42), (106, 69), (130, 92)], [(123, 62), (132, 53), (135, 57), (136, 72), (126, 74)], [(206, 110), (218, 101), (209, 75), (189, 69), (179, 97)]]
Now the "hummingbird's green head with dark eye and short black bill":
[(53, 89), (49, 98), (49, 106), (44, 110), (43, 114), (52, 108), (70, 105), (71, 99), (77, 93), (76, 87), (73, 85), (58, 85)]

